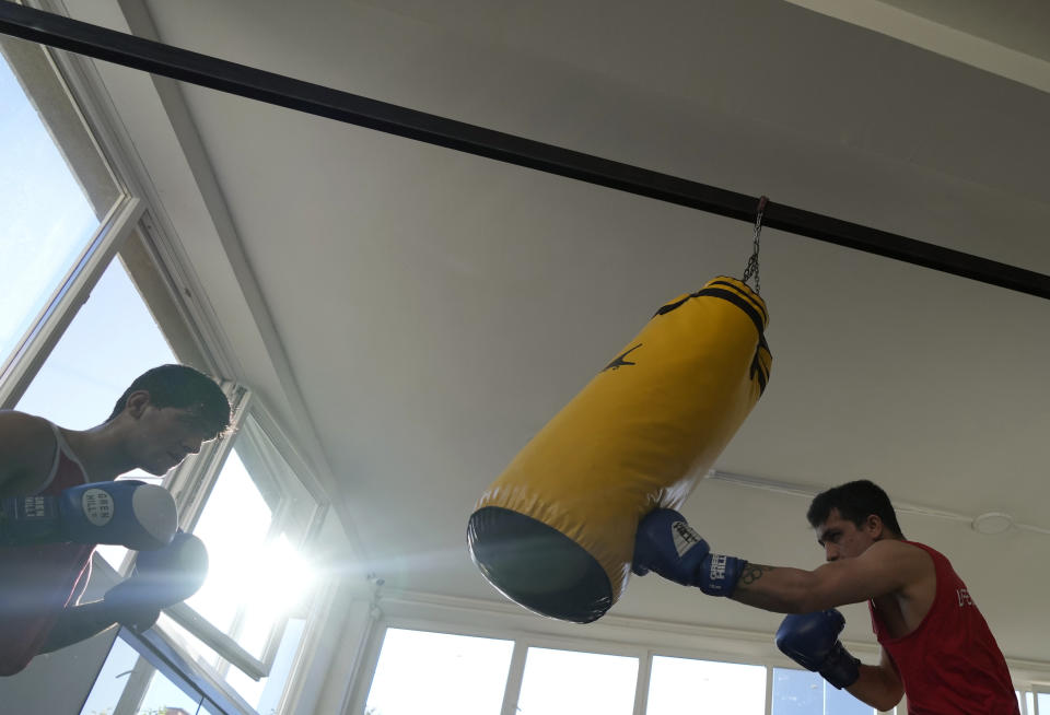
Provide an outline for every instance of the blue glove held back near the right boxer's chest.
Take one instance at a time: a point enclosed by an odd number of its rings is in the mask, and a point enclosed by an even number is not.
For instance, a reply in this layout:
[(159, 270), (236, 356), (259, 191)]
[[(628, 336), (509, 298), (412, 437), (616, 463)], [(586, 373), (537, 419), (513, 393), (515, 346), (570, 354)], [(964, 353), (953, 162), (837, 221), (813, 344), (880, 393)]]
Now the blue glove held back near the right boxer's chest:
[(861, 661), (839, 641), (845, 619), (833, 608), (792, 613), (777, 630), (777, 647), (806, 670), (819, 672), (841, 690), (861, 677)]

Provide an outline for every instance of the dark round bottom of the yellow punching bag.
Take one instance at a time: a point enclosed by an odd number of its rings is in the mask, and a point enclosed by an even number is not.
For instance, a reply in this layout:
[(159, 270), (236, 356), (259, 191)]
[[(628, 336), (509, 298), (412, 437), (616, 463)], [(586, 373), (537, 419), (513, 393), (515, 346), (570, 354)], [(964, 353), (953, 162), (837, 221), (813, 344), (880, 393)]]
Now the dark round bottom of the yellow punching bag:
[(470, 555), (512, 601), (562, 621), (590, 623), (612, 606), (602, 564), (561, 531), (511, 509), (486, 506), (467, 524)]

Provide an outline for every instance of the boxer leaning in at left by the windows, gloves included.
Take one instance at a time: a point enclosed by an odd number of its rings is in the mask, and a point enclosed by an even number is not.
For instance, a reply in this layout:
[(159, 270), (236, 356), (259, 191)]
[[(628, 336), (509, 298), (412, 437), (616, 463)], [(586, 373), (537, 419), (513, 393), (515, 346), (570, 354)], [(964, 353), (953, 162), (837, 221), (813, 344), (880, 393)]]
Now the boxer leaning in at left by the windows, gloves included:
[[(175, 535), (171, 495), (114, 480), (133, 469), (165, 474), (230, 418), (222, 389), (185, 365), (137, 377), (90, 430), (0, 411), (0, 676), (116, 623), (148, 628), (199, 587), (203, 544)], [(139, 551), (136, 573), (79, 606), (97, 543)]]

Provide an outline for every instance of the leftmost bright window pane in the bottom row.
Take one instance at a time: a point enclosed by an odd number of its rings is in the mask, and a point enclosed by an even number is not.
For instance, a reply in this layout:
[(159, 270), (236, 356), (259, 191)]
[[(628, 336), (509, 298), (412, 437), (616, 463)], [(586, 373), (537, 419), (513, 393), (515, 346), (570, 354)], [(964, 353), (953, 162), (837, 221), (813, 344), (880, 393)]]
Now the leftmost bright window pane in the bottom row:
[(514, 643), (389, 629), (368, 715), (499, 715)]

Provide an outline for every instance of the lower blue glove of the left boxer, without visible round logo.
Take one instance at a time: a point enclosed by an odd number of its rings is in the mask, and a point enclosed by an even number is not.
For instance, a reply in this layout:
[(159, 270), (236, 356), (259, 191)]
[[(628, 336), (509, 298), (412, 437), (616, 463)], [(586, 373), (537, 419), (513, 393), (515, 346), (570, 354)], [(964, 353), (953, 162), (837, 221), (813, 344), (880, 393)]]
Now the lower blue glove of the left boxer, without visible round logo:
[(208, 550), (192, 534), (178, 531), (172, 542), (143, 551), (128, 578), (102, 597), (109, 620), (140, 631), (153, 625), (161, 610), (196, 594), (208, 576)]

